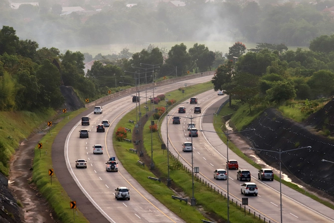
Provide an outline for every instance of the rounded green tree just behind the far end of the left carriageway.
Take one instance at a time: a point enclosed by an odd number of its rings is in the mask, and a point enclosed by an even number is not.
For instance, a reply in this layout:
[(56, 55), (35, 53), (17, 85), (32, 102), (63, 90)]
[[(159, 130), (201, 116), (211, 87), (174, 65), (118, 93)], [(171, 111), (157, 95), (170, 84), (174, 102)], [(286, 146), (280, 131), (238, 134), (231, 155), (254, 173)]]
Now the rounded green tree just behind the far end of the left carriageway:
[(213, 61), (215, 59), (215, 53), (210, 51), (204, 44), (195, 43), (192, 48), (189, 49), (189, 55), (192, 62), (196, 62), (199, 72), (207, 71), (211, 69)]

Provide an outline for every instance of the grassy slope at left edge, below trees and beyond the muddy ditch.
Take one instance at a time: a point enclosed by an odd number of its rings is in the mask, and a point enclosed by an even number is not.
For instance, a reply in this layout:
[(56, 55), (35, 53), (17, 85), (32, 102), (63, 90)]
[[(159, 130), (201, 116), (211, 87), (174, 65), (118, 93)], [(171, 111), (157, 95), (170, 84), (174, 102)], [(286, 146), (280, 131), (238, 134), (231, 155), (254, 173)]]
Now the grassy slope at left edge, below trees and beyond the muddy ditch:
[(55, 114), (52, 110), (36, 112), (0, 112), (0, 172), (9, 174), (9, 160), (19, 143)]

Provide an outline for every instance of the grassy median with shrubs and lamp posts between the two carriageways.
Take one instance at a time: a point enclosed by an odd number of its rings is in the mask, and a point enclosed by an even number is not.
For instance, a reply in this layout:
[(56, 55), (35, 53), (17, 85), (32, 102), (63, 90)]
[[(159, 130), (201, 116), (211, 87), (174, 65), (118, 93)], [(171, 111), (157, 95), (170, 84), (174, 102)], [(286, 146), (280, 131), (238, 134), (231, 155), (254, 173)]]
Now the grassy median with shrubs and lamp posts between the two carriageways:
[[(191, 93), (197, 92), (199, 89), (203, 89), (211, 85), (211, 83), (198, 84), (195, 86), (186, 87), (186, 94), (189, 97)], [(169, 94), (169, 93), (168, 93)], [(170, 99), (182, 98), (182, 93), (179, 90), (170, 92), (170, 96), (167, 96)], [(142, 109), (144, 111), (144, 105)], [(165, 102), (161, 102), (161, 105), (166, 105)], [(156, 105), (159, 107), (159, 105)], [(117, 124), (115, 131), (120, 127), (133, 128), (133, 124), (129, 123), (129, 119), (133, 120), (133, 117), (136, 116), (136, 111), (131, 111), (126, 116), (124, 116), (121, 121)], [(155, 120), (157, 123), (157, 120)], [(151, 132), (149, 129), (150, 121), (148, 121), (144, 126), (143, 139), (144, 147), (143, 150), (146, 150), (146, 153), (151, 155)], [(127, 136), (128, 139), (131, 138), (131, 135)], [(150, 171), (150, 164), (146, 164), (145, 167), (138, 164), (137, 160), (139, 159), (138, 155), (129, 151), (129, 148), (132, 147), (132, 144), (128, 142), (118, 142), (115, 139), (114, 134), (114, 149), (116, 155), (125, 169), (156, 199), (158, 199), (162, 204), (164, 204), (168, 209), (182, 218), (185, 222), (188, 223), (200, 223), (201, 219), (205, 217), (199, 213), (196, 208), (201, 206), (205, 212), (215, 213), (221, 219), (227, 219), (227, 204), (226, 200), (220, 195), (217, 195), (217, 192), (209, 189), (203, 184), (196, 183), (194, 184), (195, 198), (196, 198), (196, 207), (191, 207), (188, 204), (185, 205), (184, 202), (179, 202), (177, 200), (171, 199), (171, 195), (174, 195), (174, 192), (171, 191), (164, 183), (159, 183), (148, 179), (149, 176), (153, 176)], [(159, 170), (162, 176), (159, 176), (163, 179), (167, 179), (167, 151), (161, 149), (161, 142), (157, 132), (153, 133), (153, 154), (155, 169)], [(178, 188), (181, 188), (186, 197), (191, 197), (192, 194), (192, 180), (191, 174), (188, 174), (186, 171), (180, 169), (178, 162), (173, 159), (169, 159), (170, 165), (170, 179), (172, 179), (173, 184), (177, 185)], [(217, 208), (219, 207), (219, 208)], [(254, 215), (246, 214), (244, 216), (242, 210), (233, 205), (230, 205), (230, 222), (231, 223), (257, 223), (263, 222), (254, 219)]]

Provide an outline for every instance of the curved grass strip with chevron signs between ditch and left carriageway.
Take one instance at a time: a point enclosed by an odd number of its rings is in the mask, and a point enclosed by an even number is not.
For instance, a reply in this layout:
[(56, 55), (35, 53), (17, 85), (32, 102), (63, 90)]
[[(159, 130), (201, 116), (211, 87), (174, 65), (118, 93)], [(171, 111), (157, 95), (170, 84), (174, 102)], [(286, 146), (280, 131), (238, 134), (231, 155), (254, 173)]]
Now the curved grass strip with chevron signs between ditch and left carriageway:
[[(33, 161), (32, 181), (36, 184), (42, 196), (46, 198), (47, 202), (51, 205), (52, 209), (57, 215), (57, 218), (64, 223), (74, 223), (73, 210), (70, 209), (71, 199), (68, 197), (65, 190), (57, 180), (57, 173), (52, 176), (52, 185), (51, 177), (48, 176), (48, 170), (52, 169), (52, 143), (56, 135), (64, 127), (64, 125), (85, 110), (85, 108), (82, 108), (74, 112), (66, 113), (68, 119), (62, 119), (58, 124), (53, 127), (50, 134), (47, 133), (40, 140), (39, 143), (43, 143), (41, 157), (39, 157), (40, 151), (37, 148), (37, 145), (34, 150), (35, 156)], [(80, 212), (80, 209), (78, 208), (77, 210), (78, 216), (75, 215), (75, 223), (88, 223), (87, 219)]]

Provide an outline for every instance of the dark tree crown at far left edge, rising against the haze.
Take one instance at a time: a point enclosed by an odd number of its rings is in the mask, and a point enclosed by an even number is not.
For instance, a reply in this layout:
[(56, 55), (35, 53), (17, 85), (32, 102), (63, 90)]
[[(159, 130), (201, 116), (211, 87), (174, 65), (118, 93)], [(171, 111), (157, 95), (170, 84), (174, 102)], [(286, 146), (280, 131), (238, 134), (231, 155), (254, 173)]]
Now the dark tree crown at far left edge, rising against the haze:
[(0, 55), (6, 52), (8, 55), (16, 52), (18, 37), (13, 27), (2, 26), (0, 30)]

